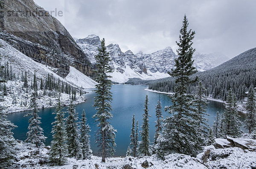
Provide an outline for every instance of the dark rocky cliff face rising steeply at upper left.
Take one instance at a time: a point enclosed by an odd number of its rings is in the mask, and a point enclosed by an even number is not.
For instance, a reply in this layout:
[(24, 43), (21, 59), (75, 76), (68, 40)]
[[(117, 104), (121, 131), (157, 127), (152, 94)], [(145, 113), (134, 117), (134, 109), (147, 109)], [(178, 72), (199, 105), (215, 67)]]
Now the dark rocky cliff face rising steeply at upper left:
[[(47, 15), (33, 0), (1, 1), (0, 9), (1, 39), (35, 61), (54, 67), (61, 77), (67, 76), (70, 66), (87, 76), (93, 76), (87, 54), (84, 54), (59, 21)], [(7, 11), (14, 11), (17, 17), (28, 21), (8, 22)], [(44, 14), (24, 16), (22, 12), (26, 11), (40, 11)]]

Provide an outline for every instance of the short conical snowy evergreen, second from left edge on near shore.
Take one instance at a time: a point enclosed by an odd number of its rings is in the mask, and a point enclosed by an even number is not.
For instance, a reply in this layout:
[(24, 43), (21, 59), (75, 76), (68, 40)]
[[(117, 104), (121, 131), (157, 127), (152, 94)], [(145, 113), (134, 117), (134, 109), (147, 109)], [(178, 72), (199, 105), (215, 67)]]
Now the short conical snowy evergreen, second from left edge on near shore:
[(31, 142), (35, 144), (35, 146), (38, 148), (38, 146), (44, 146), (45, 139), (47, 137), (44, 136), (44, 130), (41, 128), (41, 117), (38, 116), (38, 108), (37, 108), (37, 101), (36, 101), (36, 91), (33, 92), (31, 96), (30, 101), (30, 107), (33, 108), (33, 112), (27, 113), (24, 115), (24, 117), (32, 116), (29, 119), (29, 126), (28, 126), (28, 132), (26, 133), (26, 142)]

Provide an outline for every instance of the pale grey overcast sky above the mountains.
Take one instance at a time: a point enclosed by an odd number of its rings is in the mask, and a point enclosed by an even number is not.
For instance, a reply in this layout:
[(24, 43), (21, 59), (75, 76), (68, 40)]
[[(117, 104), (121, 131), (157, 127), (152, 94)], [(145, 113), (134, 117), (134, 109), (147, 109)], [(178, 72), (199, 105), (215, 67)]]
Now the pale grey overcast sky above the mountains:
[(234, 57), (256, 47), (256, 0), (34, 0), (57, 17), (75, 38), (96, 34), (122, 52), (176, 53), (183, 16), (195, 31), (196, 52)]

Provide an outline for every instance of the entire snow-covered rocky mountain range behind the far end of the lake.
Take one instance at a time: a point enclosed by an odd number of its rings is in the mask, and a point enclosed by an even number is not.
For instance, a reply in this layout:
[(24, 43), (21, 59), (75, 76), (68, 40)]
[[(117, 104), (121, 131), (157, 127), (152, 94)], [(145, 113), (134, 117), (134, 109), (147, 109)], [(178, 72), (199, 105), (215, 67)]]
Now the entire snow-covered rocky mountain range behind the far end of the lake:
[[(101, 45), (99, 36), (92, 34), (84, 39), (77, 39), (76, 43), (88, 56), (90, 62), (95, 64), (94, 56), (98, 54), (97, 49)], [(112, 58), (110, 64), (114, 69), (111, 80), (118, 83), (124, 83), (129, 78), (154, 80), (169, 77), (168, 72), (174, 68), (177, 57), (171, 47), (151, 54), (143, 52), (134, 54), (131, 50), (122, 52), (118, 44), (111, 43), (107, 46), (107, 51)], [(228, 58), (220, 53), (195, 54), (194, 60), (194, 66), (198, 71), (205, 71), (227, 61)]]

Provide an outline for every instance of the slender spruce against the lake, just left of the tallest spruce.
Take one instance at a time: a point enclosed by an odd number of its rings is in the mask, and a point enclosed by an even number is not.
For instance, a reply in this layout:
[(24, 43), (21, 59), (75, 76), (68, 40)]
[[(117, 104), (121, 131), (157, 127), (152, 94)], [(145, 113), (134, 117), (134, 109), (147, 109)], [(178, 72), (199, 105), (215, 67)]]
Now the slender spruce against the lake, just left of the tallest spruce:
[(160, 132), (162, 132), (162, 121), (163, 121), (163, 113), (162, 113), (162, 103), (160, 102), (160, 94), (159, 94), (159, 99), (157, 101), (156, 105), (156, 117), (157, 120), (155, 121), (156, 125), (156, 132), (154, 135), (154, 144), (157, 144), (157, 137), (160, 135)]

